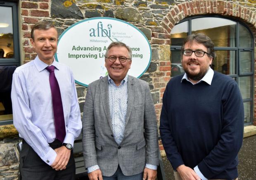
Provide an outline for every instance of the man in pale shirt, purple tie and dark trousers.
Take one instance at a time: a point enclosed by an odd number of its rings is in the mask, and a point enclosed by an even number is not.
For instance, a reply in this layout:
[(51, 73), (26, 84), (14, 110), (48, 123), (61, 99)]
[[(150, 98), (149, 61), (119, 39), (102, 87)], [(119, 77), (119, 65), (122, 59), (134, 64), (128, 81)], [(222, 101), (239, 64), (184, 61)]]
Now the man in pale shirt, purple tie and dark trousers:
[(20, 169), (25, 180), (74, 180), (73, 142), (81, 116), (73, 73), (55, 61), (57, 29), (47, 21), (31, 30), (37, 57), (19, 66), (12, 81), (13, 123), (23, 138)]

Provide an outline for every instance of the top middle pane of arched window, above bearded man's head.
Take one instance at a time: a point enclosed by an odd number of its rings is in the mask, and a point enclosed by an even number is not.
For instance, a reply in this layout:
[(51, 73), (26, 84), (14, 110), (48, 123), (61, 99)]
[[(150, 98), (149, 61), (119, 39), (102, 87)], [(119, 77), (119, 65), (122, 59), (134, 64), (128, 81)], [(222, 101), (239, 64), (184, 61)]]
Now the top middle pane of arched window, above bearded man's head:
[(217, 17), (192, 19), (192, 33), (204, 33), (216, 47), (235, 47), (236, 22)]

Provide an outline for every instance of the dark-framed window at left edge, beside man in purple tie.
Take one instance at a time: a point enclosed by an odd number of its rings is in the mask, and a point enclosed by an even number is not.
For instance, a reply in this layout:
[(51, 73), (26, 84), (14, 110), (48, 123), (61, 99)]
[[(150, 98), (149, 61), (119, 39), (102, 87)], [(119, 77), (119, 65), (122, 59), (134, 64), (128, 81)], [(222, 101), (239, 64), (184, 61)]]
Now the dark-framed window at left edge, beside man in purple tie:
[(19, 66), (17, 3), (0, 1), (0, 125), (12, 123), (12, 74)]

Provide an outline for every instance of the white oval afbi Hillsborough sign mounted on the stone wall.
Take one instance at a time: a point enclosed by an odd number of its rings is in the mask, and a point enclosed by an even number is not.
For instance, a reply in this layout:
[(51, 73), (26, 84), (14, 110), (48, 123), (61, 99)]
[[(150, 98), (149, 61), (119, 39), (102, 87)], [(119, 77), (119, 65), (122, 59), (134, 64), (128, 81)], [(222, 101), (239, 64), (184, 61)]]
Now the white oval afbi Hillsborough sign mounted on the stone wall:
[(67, 28), (59, 37), (57, 62), (68, 65), (76, 83), (89, 83), (106, 76), (105, 53), (112, 42), (128, 45), (132, 64), (128, 74), (139, 78), (151, 60), (151, 47), (146, 36), (135, 26), (109, 17), (85, 19)]

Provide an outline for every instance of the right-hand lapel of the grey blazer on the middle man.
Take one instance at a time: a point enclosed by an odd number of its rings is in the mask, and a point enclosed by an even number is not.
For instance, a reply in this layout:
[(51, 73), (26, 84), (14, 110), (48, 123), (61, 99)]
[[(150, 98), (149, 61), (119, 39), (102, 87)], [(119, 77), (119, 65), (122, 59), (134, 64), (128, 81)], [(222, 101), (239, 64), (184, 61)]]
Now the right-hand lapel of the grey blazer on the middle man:
[(135, 99), (134, 77), (128, 76), (128, 102), (127, 102), (127, 112), (126, 112), (126, 125), (130, 118), (130, 113), (132, 112), (132, 109), (133, 109), (134, 99)]

